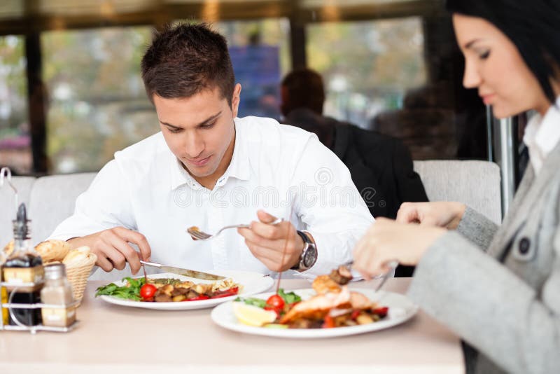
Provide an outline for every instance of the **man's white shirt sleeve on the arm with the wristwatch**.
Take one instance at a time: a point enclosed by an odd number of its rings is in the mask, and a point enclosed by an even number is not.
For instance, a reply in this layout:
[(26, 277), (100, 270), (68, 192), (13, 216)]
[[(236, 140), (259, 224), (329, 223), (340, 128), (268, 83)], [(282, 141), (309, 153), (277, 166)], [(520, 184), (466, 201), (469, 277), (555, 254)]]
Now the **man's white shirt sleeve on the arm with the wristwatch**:
[[(302, 277), (328, 274), (352, 258), (352, 250), (374, 221), (346, 165), (309, 137), (293, 176), (295, 212), (317, 247), (317, 261)], [(304, 186), (304, 187), (302, 187)]]

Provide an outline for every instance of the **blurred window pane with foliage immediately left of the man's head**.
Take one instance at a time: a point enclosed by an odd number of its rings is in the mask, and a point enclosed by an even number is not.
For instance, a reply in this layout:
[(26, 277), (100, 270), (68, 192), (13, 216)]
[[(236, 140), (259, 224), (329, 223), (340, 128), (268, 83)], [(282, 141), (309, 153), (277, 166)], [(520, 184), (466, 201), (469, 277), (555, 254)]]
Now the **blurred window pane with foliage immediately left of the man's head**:
[(50, 172), (91, 172), (159, 131), (140, 60), (151, 27), (41, 34)]

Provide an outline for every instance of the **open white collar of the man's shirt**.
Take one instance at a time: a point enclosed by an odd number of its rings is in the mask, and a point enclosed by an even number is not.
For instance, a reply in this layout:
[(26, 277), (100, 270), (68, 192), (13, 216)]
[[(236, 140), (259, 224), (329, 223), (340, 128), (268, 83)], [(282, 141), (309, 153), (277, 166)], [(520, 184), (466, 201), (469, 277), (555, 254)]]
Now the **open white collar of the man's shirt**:
[[(242, 181), (246, 181), (251, 176), (250, 163), (248, 159), (248, 153), (246, 150), (245, 139), (246, 135), (242, 134), (243, 127), (238, 125), (238, 118), (234, 119), (235, 123), (235, 144), (233, 147), (232, 160), (228, 169), (225, 170), (223, 176), (216, 182), (216, 185), (223, 186), (223, 184), (228, 181), (228, 178), (237, 178)], [(183, 168), (181, 161), (179, 161), (175, 155), (169, 151), (172, 156), (171, 162), (171, 189), (172, 191), (187, 184), (194, 189), (200, 189), (200, 183), (198, 183), (193, 176), (191, 176), (186, 169)]]

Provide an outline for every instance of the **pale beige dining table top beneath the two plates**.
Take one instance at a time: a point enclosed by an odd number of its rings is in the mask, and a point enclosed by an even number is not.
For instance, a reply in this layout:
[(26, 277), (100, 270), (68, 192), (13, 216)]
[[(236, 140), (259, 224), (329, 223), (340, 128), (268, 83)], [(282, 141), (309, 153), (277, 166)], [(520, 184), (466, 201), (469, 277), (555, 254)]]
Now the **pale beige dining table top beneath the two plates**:
[[(405, 294), (412, 278), (384, 291)], [(352, 282), (372, 289), (375, 280)], [(0, 373), (465, 373), (461, 340), (421, 309), (392, 328), (337, 338), (288, 339), (230, 331), (211, 309), (148, 310), (95, 298), (90, 281), (68, 333), (0, 331)], [(283, 279), (283, 289), (309, 288)]]

